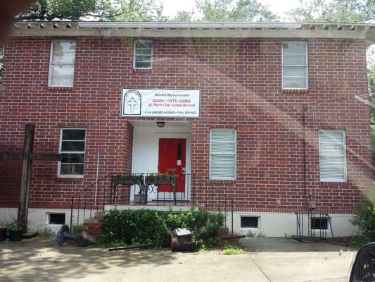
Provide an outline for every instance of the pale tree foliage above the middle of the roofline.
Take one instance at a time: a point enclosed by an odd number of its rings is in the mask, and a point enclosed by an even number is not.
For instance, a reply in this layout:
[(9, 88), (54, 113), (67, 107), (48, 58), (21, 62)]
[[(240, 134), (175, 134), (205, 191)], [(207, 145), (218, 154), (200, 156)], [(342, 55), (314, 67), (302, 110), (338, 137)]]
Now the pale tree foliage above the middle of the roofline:
[(257, 0), (196, 0), (198, 13), (203, 21), (272, 21), (278, 20), (267, 6)]

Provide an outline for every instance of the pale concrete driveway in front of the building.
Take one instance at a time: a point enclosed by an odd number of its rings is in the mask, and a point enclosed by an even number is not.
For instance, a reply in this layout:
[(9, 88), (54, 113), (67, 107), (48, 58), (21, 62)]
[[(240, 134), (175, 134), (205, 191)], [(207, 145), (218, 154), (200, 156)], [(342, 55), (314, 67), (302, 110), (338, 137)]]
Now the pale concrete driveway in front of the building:
[(246, 238), (248, 253), (108, 252), (45, 239), (0, 242), (0, 281), (348, 281), (355, 251), (284, 238)]

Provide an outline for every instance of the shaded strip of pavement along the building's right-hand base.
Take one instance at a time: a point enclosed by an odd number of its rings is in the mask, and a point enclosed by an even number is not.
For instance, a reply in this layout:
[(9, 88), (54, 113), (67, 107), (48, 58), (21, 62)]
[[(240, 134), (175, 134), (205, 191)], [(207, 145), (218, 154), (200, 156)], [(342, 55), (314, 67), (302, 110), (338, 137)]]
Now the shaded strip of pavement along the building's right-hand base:
[(298, 242), (292, 238), (243, 238), (239, 240), (248, 252), (340, 252), (350, 247), (322, 242)]

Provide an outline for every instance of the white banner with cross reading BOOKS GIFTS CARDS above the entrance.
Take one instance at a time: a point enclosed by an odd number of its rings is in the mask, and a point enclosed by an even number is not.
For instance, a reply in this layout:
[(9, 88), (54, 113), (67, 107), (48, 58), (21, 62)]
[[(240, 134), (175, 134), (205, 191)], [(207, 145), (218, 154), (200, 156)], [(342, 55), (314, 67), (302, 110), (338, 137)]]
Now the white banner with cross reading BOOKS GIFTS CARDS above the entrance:
[(199, 90), (122, 89), (121, 116), (196, 118)]

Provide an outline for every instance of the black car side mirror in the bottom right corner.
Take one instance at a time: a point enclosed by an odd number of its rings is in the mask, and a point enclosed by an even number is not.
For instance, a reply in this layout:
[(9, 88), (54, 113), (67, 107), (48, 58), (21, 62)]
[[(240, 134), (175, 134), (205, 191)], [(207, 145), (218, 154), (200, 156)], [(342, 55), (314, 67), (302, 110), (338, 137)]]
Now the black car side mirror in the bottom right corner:
[(350, 282), (375, 281), (375, 243), (369, 243), (360, 248), (355, 257)]

